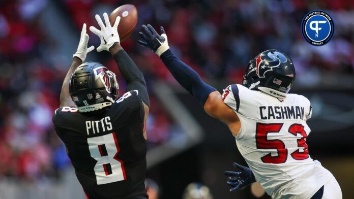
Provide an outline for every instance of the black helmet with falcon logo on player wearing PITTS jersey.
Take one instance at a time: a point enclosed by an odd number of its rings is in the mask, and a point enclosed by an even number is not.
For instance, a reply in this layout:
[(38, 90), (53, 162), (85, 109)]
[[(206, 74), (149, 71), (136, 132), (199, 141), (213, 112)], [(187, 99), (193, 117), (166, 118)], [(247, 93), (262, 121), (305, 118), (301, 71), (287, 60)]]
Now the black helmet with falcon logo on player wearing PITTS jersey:
[(71, 76), (69, 92), (80, 112), (110, 106), (119, 96), (116, 76), (101, 63), (85, 62)]

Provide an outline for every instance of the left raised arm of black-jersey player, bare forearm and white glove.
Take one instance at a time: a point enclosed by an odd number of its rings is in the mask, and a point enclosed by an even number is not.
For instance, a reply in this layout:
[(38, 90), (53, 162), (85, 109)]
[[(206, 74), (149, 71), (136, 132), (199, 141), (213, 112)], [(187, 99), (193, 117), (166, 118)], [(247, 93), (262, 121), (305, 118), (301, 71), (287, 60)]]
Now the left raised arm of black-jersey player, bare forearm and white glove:
[(77, 47), (76, 53), (73, 55), (73, 62), (71, 63), (70, 69), (64, 78), (62, 85), (62, 91), (60, 93), (60, 107), (70, 107), (75, 106), (75, 103), (71, 100), (69, 93), (69, 82), (71, 75), (74, 73), (76, 68), (85, 60), (87, 53), (95, 49), (94, 46), (87, 48), (88, 35), (86, 34), (86, 24), (82, 25), (80, 42)]

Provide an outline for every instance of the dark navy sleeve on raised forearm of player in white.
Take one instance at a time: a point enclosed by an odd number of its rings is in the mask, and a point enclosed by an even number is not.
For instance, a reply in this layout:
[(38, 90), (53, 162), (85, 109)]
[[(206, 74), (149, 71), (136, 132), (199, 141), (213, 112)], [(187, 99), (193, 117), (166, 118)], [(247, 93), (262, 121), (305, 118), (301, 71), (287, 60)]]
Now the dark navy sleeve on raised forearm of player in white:
[(216, 89), (203, 82), (197, 72), (176, 57), (170, 49), (161, 54), (161, 60), (167, 69), (189, 93), (191, 93), (201, 105), (208, 100), (209, 94)]

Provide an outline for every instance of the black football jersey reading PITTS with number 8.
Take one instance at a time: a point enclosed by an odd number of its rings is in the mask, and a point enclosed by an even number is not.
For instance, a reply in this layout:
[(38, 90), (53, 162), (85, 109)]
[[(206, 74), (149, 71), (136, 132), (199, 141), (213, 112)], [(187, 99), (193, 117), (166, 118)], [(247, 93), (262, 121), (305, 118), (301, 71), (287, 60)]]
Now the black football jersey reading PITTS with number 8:
[(144, 107), (136, 90), (100, 111), (62, 107), (53, 123), (89, 198), (147, 198)]

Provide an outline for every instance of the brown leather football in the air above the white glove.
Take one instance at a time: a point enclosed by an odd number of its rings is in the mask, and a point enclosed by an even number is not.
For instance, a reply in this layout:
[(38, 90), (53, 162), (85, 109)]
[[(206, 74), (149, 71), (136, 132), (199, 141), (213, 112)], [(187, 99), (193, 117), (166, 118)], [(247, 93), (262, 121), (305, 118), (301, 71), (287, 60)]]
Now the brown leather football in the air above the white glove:
[(121, 21), (118, 25), (118, 34), (122, 42), (123, 40), (127, 39), (134, 31), (136, 23), (138, 22), (138, 11), (134, 5), (130, 4), (116, 8), (109, 15), (109, 22), (111, 25), (114, 24), (115, 18), (117, 16), (121, 17)]

